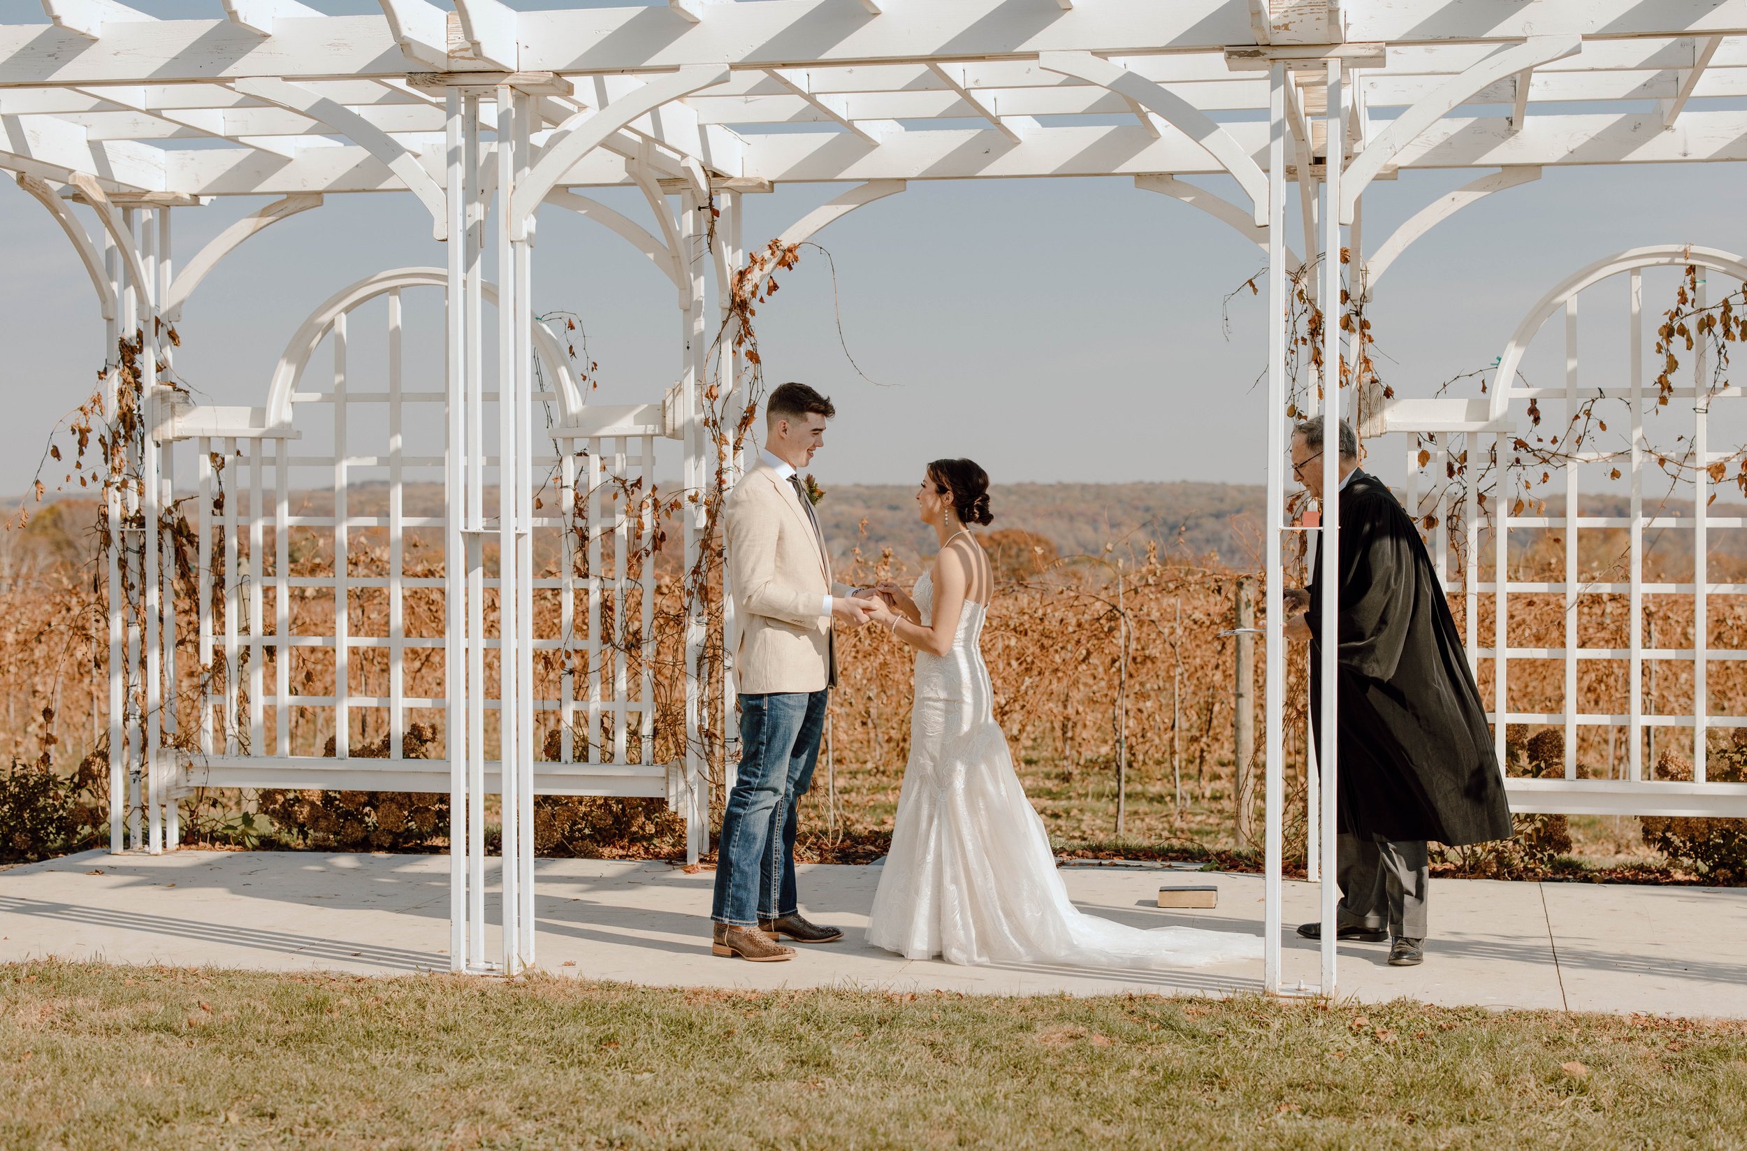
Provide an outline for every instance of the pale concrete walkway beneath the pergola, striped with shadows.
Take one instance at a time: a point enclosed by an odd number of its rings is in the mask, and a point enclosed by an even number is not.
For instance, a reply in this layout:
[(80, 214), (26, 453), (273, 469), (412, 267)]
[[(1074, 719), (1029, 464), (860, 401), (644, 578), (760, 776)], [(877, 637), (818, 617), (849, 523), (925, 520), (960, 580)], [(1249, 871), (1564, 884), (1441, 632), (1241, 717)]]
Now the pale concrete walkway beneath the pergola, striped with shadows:
[[(182, 851), (84, 852), (0, 872), (0, 961), (409, 975), (445, 971), (447, 856)], [(804, 905), (844, 943), (786, 964), (715, 959), (713, 877), (664, 863), (542, 859), (538, 966), (652, 985), (863, 987), (978, 994), (1230, 994), (1261, 962), (1191, 971), (959, 968), (867, 947), (879, 882), (867, 866), (807, 866)], [(1261, 877), (1067, 868), (1081, 910), (1137, 926), (1261, 929)], [(1214, 882), (1218, 910), (1164, 912), (1158, 886)], [(1747, 891), (1436, 880), (1426, 964), (1389, 968), (1384, 945), (1340, 948), (1340, 994), (1436, 1004), (1747, 1017)], [(1317, 950), (1291, 934), (1315, 886), (1286, 884), (1286, 982), (1317, 982)], [(493, 933), (494, 934), (494, 933)]]

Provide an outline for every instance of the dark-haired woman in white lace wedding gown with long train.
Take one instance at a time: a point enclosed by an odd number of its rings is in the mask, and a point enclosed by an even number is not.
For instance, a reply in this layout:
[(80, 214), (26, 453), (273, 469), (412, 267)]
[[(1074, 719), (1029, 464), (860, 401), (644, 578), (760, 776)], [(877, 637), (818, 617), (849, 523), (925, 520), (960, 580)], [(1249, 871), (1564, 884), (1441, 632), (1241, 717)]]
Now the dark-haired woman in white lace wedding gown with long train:
[(908, 959), (963, 964), (1181, 968), (1260, 959), (1256, 936), (1129, 927), (1067, 901), (1043, 821), (994, 721), (982, 658), (994, 582), (970, 524), (994, 519), (989, 475), (970, 459), (936, 459), (915, 503), (940, 554), (914, 599), (882, 583), (870, 622), (915, 648), (915, 704), (868, 941)]

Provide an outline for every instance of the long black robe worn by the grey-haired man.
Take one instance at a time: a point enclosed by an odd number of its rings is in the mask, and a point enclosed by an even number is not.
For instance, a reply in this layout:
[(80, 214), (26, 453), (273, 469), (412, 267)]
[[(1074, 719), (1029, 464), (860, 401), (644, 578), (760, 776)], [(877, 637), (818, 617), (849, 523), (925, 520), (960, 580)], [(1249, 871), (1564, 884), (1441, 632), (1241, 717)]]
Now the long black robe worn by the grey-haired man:
[[(1342, 831), (1462, 845), (1511, 837), (1492, 734), (1419, 529), (1354, 472), (1340, 493)], [(1310, 714), (1322, 711), (1322, 548), (1310, 580)], [(1319, 735), (1321, 741), (1321, 735)]]

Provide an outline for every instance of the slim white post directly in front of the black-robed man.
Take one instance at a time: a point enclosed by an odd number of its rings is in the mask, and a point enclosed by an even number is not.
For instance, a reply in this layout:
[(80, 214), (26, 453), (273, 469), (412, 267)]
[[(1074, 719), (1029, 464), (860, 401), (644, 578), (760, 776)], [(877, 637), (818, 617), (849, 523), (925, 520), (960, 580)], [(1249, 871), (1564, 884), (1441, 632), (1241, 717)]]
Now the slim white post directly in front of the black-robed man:
[(1340, 203), (1345, 119), (1342, 117), (1340, 59), (1328, 61), (1328, 161), (1322, 206), (1322, 620), (1321, 681), (1322, 739), (1317, 763), (1322, 772), (1322, 996), (1335, 996), (1335, 833), (1336, 833), (1336, 679), (1340, 674)]

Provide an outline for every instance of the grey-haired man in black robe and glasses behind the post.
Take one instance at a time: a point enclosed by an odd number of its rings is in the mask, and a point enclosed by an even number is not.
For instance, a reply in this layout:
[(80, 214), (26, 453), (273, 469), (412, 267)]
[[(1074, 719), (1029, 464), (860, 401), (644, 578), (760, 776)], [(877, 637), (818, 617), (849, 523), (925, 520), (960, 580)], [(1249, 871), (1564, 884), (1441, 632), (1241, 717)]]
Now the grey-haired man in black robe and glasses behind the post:
[[(1321, 744), (1322, 596), (1338, 589), (1335, 882), (1336, 938), (1394, 938), (1391, 966), (1424, 959), (1427, 840), (1450, 847), (1511, 837), (1511, 812), (1438, 569), (1419, 527), (1373, 475), (1345, 421), (1340, 447), (1340, 557), (1321, 541), (1309, 589), (1286, 592), (1291, 639), (1310, 641), (1310, 716)], [(1322, 493), (1322, 417), (1293, 431), (1293, 475)], [(1321, 924), (1298, 934), (1317, 940)]]

